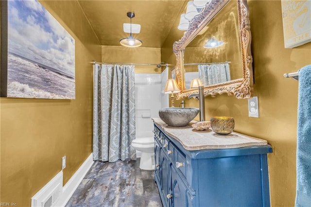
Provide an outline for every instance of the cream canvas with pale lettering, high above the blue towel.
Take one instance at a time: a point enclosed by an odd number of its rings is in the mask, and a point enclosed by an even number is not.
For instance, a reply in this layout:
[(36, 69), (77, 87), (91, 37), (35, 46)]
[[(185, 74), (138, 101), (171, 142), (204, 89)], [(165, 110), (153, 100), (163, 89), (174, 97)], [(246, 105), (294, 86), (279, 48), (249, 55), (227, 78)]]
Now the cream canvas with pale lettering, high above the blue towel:
[(311, 0), (282, 0), (285, 48), (311, 42)]

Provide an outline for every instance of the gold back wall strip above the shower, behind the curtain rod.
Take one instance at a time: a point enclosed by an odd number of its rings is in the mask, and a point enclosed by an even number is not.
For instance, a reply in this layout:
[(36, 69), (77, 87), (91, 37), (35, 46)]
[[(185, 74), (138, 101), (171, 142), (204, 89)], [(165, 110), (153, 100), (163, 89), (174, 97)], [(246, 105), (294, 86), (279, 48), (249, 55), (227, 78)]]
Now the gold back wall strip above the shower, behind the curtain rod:
[[(104, 63), (159, 64), (161, 63), (161, 48), (102, 46), (102, 61)], [(155, 65), (135, 65), (135, 73), (161, 73), (161, 68)]]

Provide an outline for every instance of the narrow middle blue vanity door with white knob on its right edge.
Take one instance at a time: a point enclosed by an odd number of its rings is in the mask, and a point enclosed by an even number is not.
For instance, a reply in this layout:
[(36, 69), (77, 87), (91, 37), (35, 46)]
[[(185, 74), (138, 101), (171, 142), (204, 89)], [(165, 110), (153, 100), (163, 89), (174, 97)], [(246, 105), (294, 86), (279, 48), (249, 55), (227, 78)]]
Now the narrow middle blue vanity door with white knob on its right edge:
[[(161, 191), (162, 195), (164, 197), (164, 203), (163, 206), (169, 207), (170, 202), (171, 202), (171, 162), (169, 159), (167, 159), (166, 155), (162, 151), (162, 148), (160, 149), (160, 166), (161, 166), (161, 175), (160, 175), (160, 180), (161, 180)], [(163, 201), (162, 201), (163, 202)]]

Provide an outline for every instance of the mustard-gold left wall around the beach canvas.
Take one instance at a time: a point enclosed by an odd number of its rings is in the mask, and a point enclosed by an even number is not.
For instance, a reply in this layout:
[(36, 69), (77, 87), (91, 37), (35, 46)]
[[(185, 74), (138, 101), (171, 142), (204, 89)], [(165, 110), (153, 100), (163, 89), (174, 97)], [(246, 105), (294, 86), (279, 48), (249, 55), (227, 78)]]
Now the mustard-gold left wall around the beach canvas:
[(101, 46), (77, 1), (41, 1), (75, 39), (75, 100), (0, 98), (1, 201), (30, 206), (61, 171), (64, 184), (92, 152), (92, 64)]

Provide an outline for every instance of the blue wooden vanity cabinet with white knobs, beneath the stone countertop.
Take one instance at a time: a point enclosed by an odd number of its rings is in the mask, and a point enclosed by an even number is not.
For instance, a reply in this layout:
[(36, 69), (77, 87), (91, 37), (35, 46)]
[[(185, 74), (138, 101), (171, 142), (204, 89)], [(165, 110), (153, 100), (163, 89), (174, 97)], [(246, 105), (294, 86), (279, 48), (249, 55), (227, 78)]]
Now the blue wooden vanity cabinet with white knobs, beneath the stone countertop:
[(155, 123), (155, 159), (160, 158), (155, 182), (162, 204), (270, 207), (267, 153), (271, 152), (270, 145), (186, 150)]

